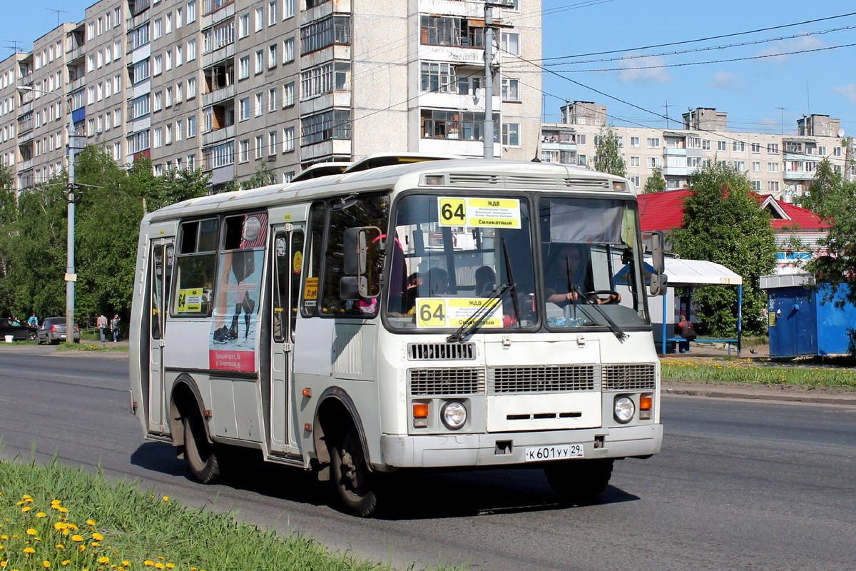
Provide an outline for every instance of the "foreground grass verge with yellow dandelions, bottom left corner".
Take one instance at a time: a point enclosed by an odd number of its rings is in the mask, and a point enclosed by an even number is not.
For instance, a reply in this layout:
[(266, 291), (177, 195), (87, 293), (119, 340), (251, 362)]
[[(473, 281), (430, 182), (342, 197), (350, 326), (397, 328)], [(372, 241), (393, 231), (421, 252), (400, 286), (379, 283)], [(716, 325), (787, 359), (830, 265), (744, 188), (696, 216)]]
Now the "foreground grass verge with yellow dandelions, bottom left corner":
[(92, 475), (56, 457), (47, 464), (0, 460), (0, 568), (392, 569), (242, 524), (232, 514), (187, 509), (136, 483), (111, 484), (100, 468)]

